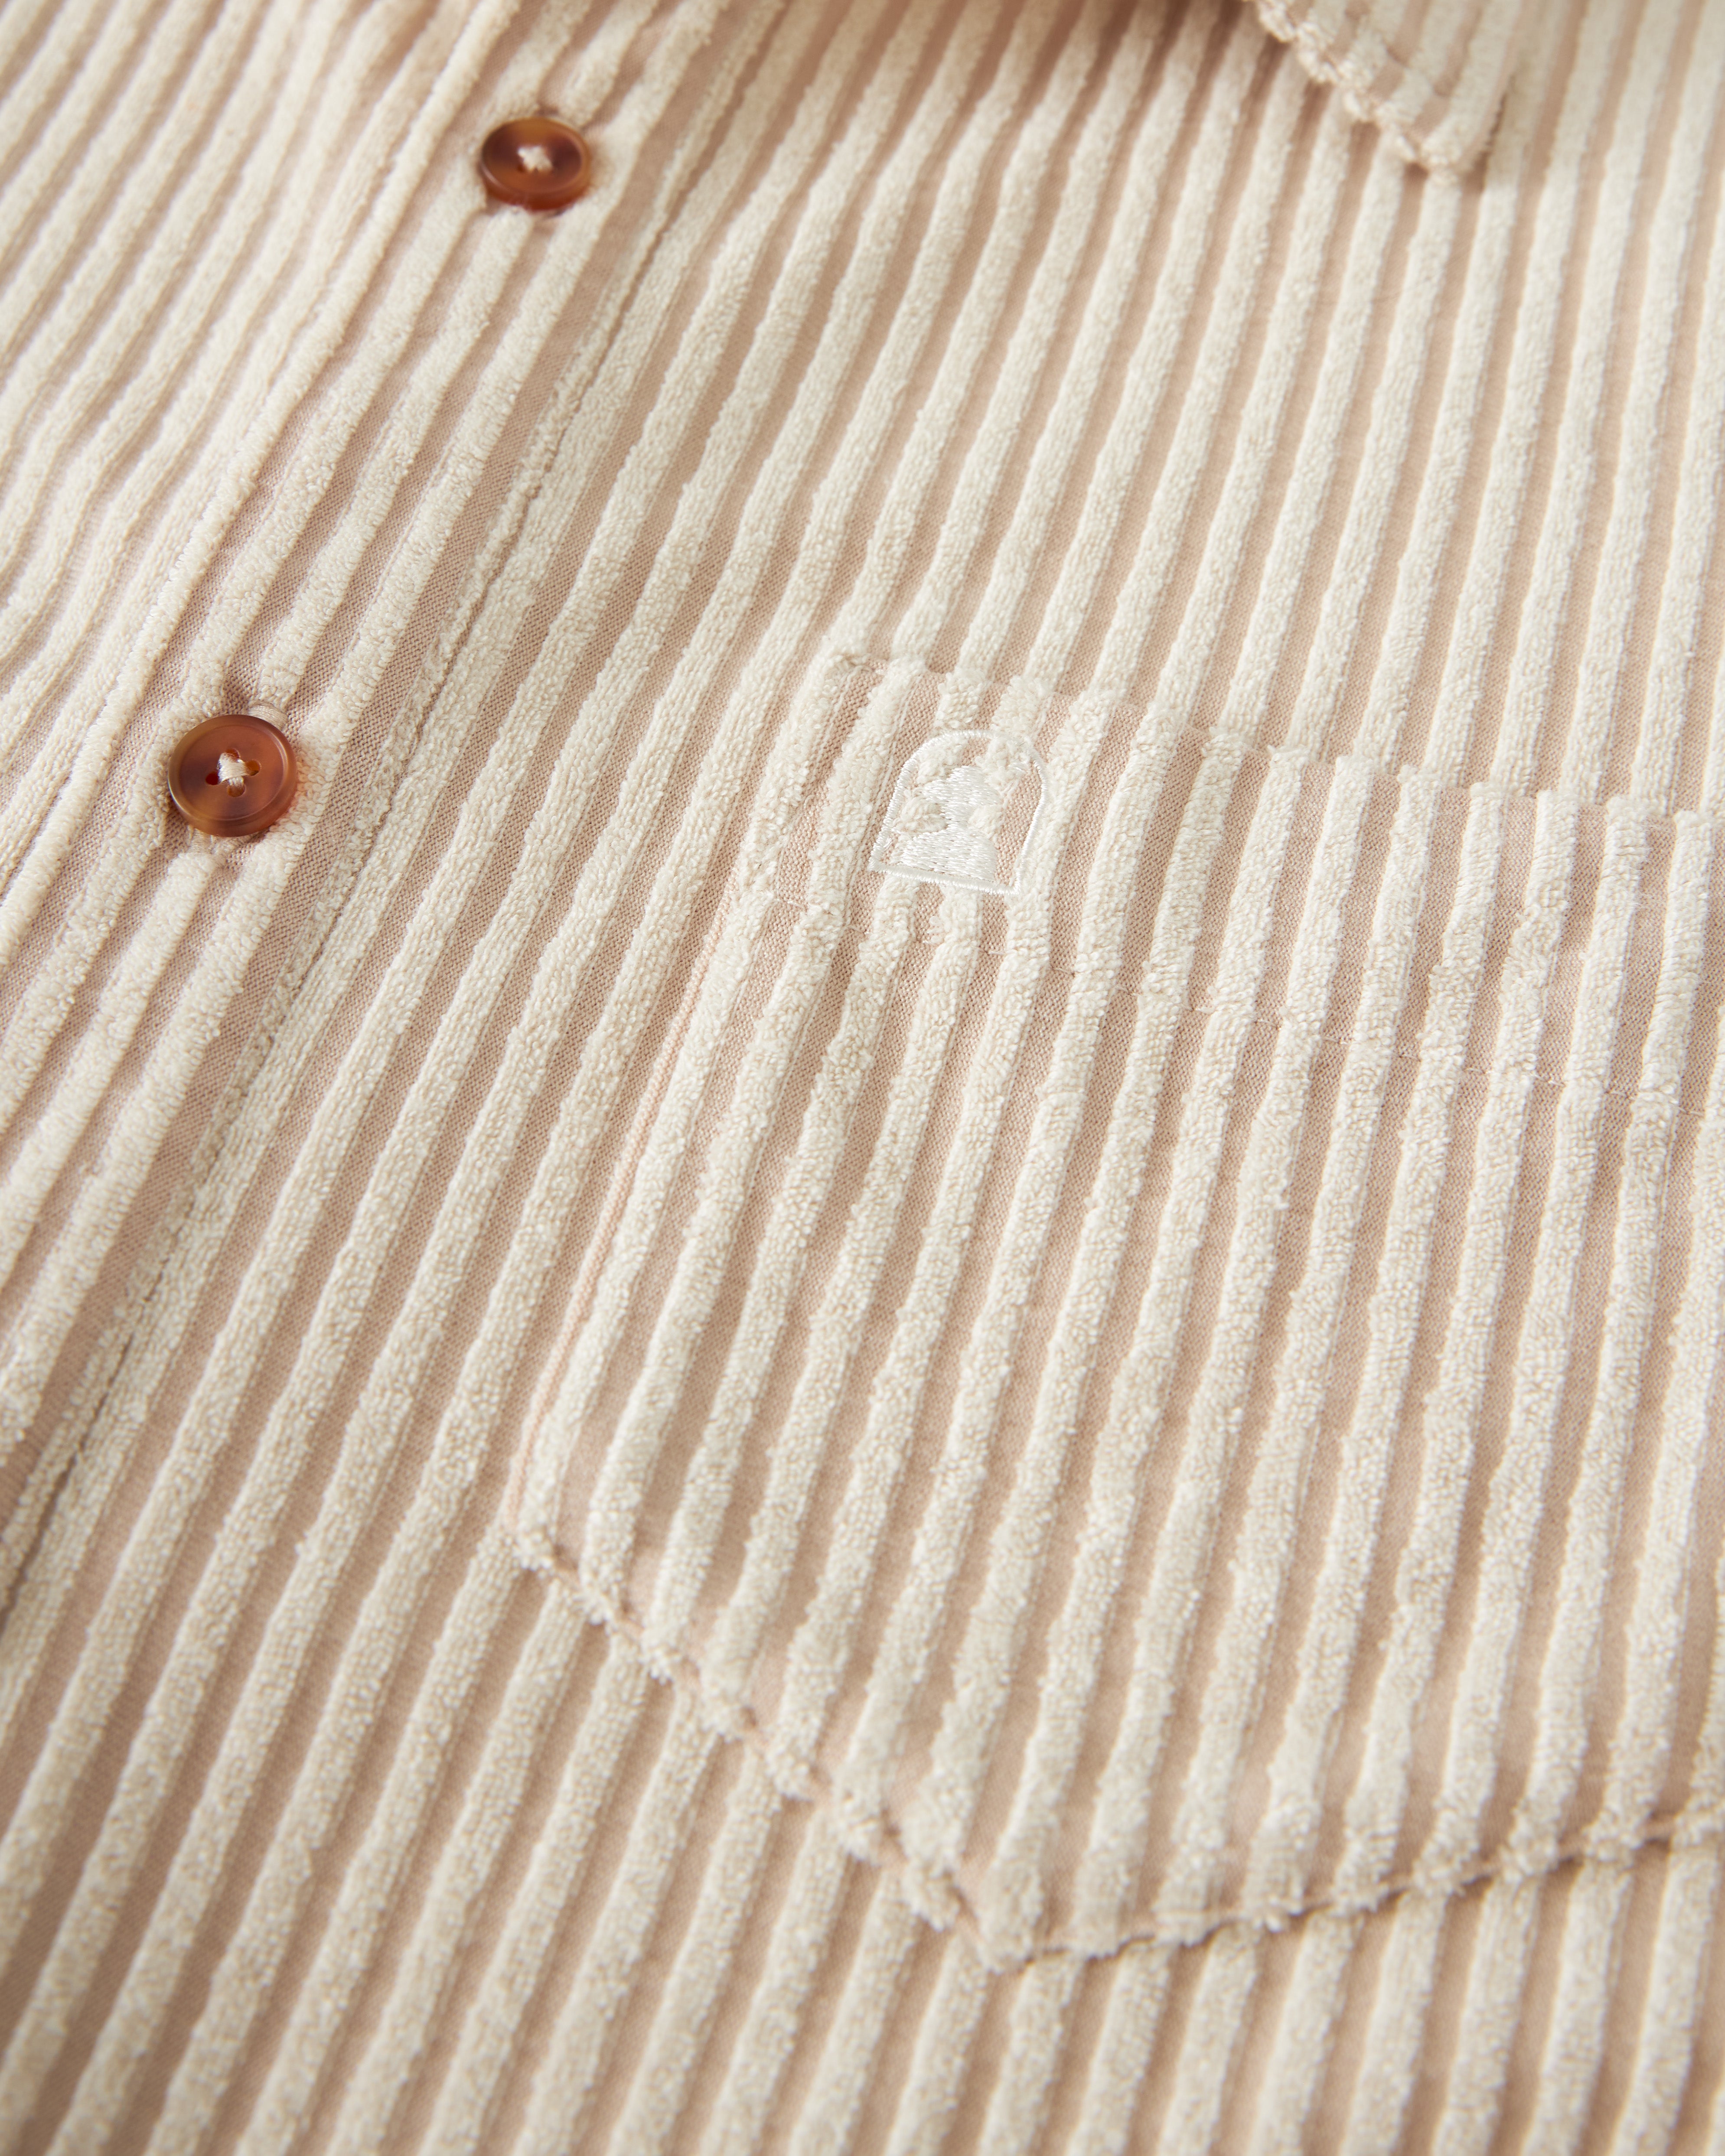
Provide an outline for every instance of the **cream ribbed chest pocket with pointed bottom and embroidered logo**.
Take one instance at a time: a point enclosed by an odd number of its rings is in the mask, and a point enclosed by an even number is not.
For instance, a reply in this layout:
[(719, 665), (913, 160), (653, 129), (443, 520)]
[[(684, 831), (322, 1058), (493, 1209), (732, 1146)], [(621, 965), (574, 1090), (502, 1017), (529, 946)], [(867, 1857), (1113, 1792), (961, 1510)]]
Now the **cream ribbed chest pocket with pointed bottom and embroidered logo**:
[(1576, 1680), (1471, 1615), (1581, 1563), (1593, 1408), (1516, 1341), (1563, 1145), (1587, 1263), (1693, 1138), (1619, 990), (1671, 908), (1716, 934), (1710, 849), (921, 666), (804, 720), (546, 1393), (535, 1561), (1000, 1962), (1570, 1846)]

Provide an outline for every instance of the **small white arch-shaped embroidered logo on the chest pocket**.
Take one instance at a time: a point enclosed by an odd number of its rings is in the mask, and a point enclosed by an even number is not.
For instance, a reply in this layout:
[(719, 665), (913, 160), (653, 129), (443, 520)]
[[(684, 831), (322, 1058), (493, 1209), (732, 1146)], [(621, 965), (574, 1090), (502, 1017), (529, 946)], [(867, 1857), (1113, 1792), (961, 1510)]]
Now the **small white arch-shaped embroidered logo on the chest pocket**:
[(869, 867), (957, 890), (1016, 890), (1048, 765), (1003, 733), (938, 733), (899, 772)]

